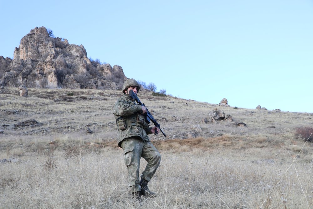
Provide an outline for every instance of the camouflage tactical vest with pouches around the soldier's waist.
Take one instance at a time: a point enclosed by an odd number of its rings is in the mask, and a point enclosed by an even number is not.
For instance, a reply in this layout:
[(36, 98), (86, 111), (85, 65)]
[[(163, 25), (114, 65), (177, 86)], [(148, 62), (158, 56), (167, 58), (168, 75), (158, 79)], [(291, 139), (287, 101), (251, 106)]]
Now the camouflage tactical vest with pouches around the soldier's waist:
[(130, 116), (121, 116), (117, 118), (116, 125), (122, 131), (130, 126), (139, 126), (141, 128), (149, 128), (148, 123), (146, 123), (145, 116), (138, 112)]

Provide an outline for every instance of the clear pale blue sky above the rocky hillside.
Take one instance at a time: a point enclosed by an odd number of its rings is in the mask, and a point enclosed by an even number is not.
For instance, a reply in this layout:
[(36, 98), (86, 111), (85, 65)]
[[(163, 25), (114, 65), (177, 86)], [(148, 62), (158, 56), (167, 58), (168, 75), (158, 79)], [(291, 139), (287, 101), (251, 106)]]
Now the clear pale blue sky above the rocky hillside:
[(312, 0), (1, 0), (0, 18), (4, 57), (44, 26), (172, 96), (313, 112)]

